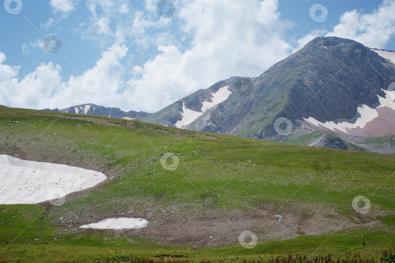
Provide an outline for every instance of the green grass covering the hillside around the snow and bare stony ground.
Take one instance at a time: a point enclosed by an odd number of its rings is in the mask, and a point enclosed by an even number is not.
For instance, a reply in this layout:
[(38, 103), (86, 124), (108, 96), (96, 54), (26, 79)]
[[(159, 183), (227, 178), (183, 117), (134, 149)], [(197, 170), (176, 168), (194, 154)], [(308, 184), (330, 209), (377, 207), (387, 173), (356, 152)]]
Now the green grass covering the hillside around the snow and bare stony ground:
[[(8, 121), (12, 125), (6, 125)], [(191, 260), (329, 252), (377, 256), (381, 248), (395, 245), (394, 217), (388, 217), (395, 210), (392, 155), (304, 148), (106, 117), (11, 108), (0, 108), (0, 130), (1, 153), (22, 152), (27, 159), (67, 163), (114, 176), (99, 188), (68, 197), (59, 207), (0, 205), (1, 259), (91, 261), (117, 253), (141, 258), (182, 254)], [(177, 155), (177, 169), (162, 167), (160, 155), (165, 152)], [(189, 245), (163, 246), (139, 233), (78, 228), (65, 232), (70, 228), (59, 221), (65, 216), (88, 218), (129, 210), (170, 214), (176, 208), (183, 211), (178, 216), (185, 218), (209, 211), (227, 216), (242, 207), (253, 211), (262, 206), (295, 211), (313, 207), (305, 211), (312, 215), (317, 206), (355, 217), (359, 214), (352, 200), (357, 195), (372, 202), (372, 213), (366, 216), (377, 220), (374, 213), (387, 215), (379, 218), (387, 226), (384, 230), (301, 234), (290, 240), (261, 240), (254, 249), (223, 244), (192, 250)], [(362, 246), (362, 242), (369, 245)]]

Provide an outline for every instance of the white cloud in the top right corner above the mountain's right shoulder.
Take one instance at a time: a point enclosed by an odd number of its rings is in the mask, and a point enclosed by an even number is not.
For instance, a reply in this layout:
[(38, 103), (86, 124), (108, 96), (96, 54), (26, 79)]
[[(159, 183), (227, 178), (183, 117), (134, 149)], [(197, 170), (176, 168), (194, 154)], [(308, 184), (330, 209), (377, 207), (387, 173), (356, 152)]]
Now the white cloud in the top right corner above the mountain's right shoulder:
[(395, 1), (384, 0), (371, 14), (345, 12), (327, 37), (350, 38), (372, 48), (383, 48), (395, 36)]

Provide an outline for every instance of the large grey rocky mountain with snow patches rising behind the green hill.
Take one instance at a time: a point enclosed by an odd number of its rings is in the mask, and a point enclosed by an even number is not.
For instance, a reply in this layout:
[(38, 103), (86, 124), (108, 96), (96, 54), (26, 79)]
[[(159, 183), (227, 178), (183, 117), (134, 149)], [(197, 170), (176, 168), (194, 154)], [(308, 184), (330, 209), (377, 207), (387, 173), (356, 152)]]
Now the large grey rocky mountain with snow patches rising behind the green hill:
[(316, 130), (394, 134), (393, 55), (350, 39), (315, 38), (258, 77), (217, 82), (142, 120), (276, 141)]

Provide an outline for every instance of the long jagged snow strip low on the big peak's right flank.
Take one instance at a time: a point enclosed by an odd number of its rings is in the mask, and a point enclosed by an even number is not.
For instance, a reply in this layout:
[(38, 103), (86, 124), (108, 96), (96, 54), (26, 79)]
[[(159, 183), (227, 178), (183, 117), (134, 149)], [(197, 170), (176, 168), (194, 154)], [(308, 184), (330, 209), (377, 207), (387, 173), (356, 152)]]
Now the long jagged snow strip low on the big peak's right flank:
[(395, 91), (383, 91), (385, 93), (385, 98), (378, 96), (380, 105), (376, 109), (372, 109), (365, 104), (362, 104), (362, 107), (358, 107), (356, 109), (357, 113), (355, 113), (355, 115), (359, 113), (360, 117), (356, 119), (355, 123), (351, 123), (349, 121), (343, 121), (338, 123), (335, 123), (333, 121), (326, 121), (325, 123), (322, 123), (313, 117), (303, 119), (315, 126), (321, 125), (332, 131), (335, 131), (336, 129), (345, 133), (349, 133), (347, 132), (347, 129), (363, 128), (368, 122), (374, 120), (378, 116), (377, 110), (380, 108), (388, 107), (395, 111)]

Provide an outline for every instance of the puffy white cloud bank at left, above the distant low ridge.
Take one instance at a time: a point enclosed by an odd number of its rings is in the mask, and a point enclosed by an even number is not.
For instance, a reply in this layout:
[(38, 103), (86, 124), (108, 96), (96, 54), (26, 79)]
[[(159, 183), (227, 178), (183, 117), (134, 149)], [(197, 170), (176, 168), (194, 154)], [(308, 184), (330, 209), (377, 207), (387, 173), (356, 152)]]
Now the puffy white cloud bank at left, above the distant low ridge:
[[(66, 108), (87, 102), (113, 106), (121, 97), (120, 60), (127, 50), (125, 46), (113, 45), (102, 52), (94, 67), (81, 75), (71, 75), (68, 81), (62, 81), (61, 67), (52, 62), (40, 63), (19, 79), (20, 67), (3, 64), (6, 57), (0, 53), (0, 104), (33, 109)], [(90, 80), (97, 82), (90, 84)]]

